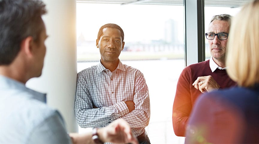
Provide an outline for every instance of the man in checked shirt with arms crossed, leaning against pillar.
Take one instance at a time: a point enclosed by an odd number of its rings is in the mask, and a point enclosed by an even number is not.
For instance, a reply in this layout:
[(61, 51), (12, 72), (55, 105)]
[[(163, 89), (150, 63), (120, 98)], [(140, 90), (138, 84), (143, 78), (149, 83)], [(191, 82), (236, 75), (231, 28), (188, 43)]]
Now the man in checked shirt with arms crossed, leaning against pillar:
[(79, 126), (103, 127), (123, 118), (139, 143), (150, 143), (144, 130), (150, 119), (148, 88), (143, 74), (122, 64), (124, 32), (117, 24), (103, 25), (96, 47), (101, 60), (77, 75), (75, 113)]

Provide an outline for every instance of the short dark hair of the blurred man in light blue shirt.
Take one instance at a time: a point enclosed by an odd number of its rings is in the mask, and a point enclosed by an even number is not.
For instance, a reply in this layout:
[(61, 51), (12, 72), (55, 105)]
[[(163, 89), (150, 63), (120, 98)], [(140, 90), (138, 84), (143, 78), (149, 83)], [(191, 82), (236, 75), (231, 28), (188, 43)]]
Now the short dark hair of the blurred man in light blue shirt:
[(45, 6), (39, 0), (0, 0), (0, 65), (12, 63), (26, 37), (38, 40)]

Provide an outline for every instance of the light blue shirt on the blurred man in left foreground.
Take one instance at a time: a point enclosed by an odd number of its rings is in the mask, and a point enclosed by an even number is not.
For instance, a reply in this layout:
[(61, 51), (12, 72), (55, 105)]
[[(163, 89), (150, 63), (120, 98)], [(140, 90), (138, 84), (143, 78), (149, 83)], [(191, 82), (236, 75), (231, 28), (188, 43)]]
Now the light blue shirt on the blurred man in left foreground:
[(0, 143), (71, 143), (46, 94), (0, 75)]

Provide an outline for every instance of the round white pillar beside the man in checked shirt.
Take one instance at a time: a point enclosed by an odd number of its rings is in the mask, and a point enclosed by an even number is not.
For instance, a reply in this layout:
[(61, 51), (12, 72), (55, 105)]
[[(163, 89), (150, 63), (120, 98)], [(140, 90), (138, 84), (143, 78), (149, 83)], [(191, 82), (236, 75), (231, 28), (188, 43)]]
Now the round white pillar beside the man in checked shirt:
[(74, 113), (76, 89), (76, 0), (43, 0), (48, 13), (47, 52), (43, 73), (27, 86), (47, 93), (47, 104), (61, 112), (68, 132), (78, 132)]

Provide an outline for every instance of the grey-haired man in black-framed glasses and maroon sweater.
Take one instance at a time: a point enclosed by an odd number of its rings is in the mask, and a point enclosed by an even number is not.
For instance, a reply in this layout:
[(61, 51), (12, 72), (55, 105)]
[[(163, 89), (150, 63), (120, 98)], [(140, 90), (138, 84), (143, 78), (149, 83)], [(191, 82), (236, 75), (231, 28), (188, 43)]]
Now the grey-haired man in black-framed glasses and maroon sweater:
[(213, 16), (206, 33), (210, 47), (210, 60), (192, 64), (183, 69), (174, 98), (172, 121), (174, 133), (185, 136), (185, 128), (192, 106), (201, 93), (235, 86), (226, 72), (225, 52), (231, 16)]

